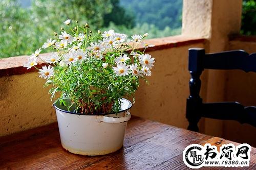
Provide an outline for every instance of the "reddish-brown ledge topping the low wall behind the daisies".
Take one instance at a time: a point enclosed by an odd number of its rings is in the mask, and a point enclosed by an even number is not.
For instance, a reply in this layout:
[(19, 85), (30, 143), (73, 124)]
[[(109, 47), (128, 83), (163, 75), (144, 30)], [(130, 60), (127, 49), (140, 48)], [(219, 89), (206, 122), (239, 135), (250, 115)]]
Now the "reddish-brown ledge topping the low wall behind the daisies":
[[(148, 39), (145, 40), (145, 42), (148, 44), (154, 44), (155, 46), (148, 47), (146, 52), (164, 50), (167, 48), (179, 47), (195, 43), (204, 43), (205, 41), (206, 39), (204, 38), (186, 37), (182, 35)], [(139, 49), (142, 50), (143, 47), (140, 46)], [(40, 56), (42, 59), (44, 59), (49, 56), (49, 53), (41, 54)], [(35, 68), (27, 69), (23, 67), (23, 64), (27, 62), (28, 58), (29, 56), (18, 56), (0, 59), (0, 77), (20, 75), (27, 72), (36, 71)], [(46, 65), (46, 63), (39, 61), (37, 66), (42, 67), (44, 65)]]

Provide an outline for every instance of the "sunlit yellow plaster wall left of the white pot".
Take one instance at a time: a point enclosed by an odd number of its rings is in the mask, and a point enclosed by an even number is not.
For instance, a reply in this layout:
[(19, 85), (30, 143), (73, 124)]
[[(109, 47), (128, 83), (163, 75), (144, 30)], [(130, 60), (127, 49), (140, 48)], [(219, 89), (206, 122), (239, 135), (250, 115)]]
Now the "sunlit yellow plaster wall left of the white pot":
[(37, 72), (0, 78), (0, 136), (56, 121), (44, 82)]

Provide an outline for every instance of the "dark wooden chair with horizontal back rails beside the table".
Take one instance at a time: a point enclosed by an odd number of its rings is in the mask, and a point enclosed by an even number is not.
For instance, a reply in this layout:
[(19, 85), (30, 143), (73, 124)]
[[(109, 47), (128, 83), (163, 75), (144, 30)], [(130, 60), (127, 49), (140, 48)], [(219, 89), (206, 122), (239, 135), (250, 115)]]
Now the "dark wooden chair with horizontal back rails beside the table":
[(198, 132), (201, 117), (222, 120), (237, 120), (256, 127), (256, 107), (244, 107), (238, 102), (203, 103), (200, 97), (200, 75), (204, 69), (241, 69), (256, 72), (256, 53), (248, 54), (243, 50), (205, 54), (203, 48), (190, 48), (188, 70), (190, 95), (187, 99), (186, 118), (188, 130)]

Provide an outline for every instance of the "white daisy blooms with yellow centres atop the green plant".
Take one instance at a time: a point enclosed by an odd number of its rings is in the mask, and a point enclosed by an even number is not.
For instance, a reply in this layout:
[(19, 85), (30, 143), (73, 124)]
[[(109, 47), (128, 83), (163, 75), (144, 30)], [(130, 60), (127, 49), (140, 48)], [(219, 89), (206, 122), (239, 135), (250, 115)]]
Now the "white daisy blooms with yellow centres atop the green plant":
[[(64, 23), (70, 27), (71, 20), (67, 20)], [(151, 76), (151, 69), (155, 63), (154, 58), (149, 54), (143, 54), (138, 52), (138, 46), (143, 44), (144, 48), (154, 45), (142, 42), (148, 34), (133, 35), (131, 43), (135, 44), (130, 54), (115, 53), (115, 59), (113, 63), (105, 62), (105, 54), (116, 52), (123, 48), (123, 44), (126, 43), (126, 34), (115, 33), (114, 30), (105, 31), (101, 34), (98, 31), (99, 39), (97, 41), (89, 41), (88, 36), (84, 33), (77, 33), (73, 36), (66, 31), (61, 32), (57, 40), (48, 39), (42, 45), (42, 48), (52, 47), (57, 53), (52, 53), (44, 62), (48, 64), (39, 70), (39, 77), (48, 79), (54, 74), (53, 67), (55, 64), (59, 66), (69, 66), (76, 62), (82, 62), (83, 60), (102, 60), (102, 67), (104, 69), (110, 67), (113, 69), (117, 76), (133, 75), (136, 77)], [(56, 34), (57, 35), (57, 34)], [(84, 44), (88, 43), (90, 46)], [(35, 51), (29, 58), (28, 62), (24, 64), (27, 69), (35, 67), (37, 60), (42, 60), (39, 57), (41, 48)], [(119, 51), (120, 52), (120, 51)], [(136, 59), (137, 63), (132, 62)], [(53, 65), (53, 66), (52, 66)], [(35, 67), (36, 68), (36, 67)]]

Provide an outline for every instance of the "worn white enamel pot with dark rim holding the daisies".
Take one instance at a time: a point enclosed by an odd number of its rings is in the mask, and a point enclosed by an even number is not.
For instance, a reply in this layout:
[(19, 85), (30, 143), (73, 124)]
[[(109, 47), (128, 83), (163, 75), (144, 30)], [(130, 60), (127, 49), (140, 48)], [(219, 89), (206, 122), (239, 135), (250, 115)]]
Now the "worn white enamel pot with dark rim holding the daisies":
[(80, 155), (104, 155), (122, 148), (129, 110), (132, 103), (122, 99), (118, 113), (79, 114), (67, 107), (54, 104), (61, 145), (67, 151)]

